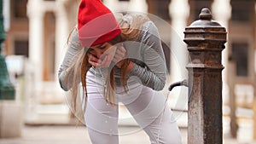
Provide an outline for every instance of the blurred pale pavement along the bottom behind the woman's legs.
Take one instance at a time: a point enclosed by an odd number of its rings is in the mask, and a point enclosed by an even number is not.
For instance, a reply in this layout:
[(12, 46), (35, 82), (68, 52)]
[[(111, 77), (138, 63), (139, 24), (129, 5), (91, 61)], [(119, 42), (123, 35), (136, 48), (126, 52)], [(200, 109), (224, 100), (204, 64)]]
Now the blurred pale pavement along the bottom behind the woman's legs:
[[(120, 127), (120, 144), (149, 144), (148, 136), (137, 127)], [(187, 130), (181, 129), (183, 144), (187, 143)], [(15, 139), (0, 139), (0, 144), (90, 144), (84, 126), (41, 125), (24, 126), (22, 136)], [(224, 144), (256, 144), (236, 141), (224, 136)]]

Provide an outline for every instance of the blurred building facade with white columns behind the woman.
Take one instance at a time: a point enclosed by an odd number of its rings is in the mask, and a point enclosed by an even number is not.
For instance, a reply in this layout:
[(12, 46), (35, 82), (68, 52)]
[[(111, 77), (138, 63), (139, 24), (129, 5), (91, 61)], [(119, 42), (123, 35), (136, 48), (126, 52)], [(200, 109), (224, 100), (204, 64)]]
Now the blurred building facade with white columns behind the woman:
[[(23, 55), (26, 59), (20, 98), (24, 101), (25, 122), (54, 123), (59, 117), (64, 119), (63, 123), (68, 123), (64, 96), (67, 94), (58, 84), (57, 71), (66, 52), (68, 34), (76, 25), (79, 0), (4, 2), (7, 9), (5, 53)], [(182, 80), (185, 75), (181, 74), (186, 71), (189, 60), (183, 43), (185, 26), (197, 20), (202, 8), (210, 8), (213, 20), (228, 31), (222, 57), (224, 106), (229, 107), (224, 114), (234, 115), (237, 107), (255, 109), (255, 0), (103, 0), (103, 3), (113, 12), (128, 10), (156, 15), (159, 18), (156, 23), (163, 20), (172, 27), (165, 27), (166, 23), (157, 25), (165, 42), (169, 83)], [(45, 121), (44, 115), (48, 116)]]

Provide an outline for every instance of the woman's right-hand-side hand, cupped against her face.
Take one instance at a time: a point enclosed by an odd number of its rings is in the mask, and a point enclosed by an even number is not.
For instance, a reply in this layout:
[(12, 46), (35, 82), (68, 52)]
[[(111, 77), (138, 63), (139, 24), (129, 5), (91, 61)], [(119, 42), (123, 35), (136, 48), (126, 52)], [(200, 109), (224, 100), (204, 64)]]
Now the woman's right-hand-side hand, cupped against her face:
[(123, 45), (118, 46), (115, 51), (115, 55), (113, 55), (113, 62), (116, 66), (121, 67), (124, 64), (126, 49)]

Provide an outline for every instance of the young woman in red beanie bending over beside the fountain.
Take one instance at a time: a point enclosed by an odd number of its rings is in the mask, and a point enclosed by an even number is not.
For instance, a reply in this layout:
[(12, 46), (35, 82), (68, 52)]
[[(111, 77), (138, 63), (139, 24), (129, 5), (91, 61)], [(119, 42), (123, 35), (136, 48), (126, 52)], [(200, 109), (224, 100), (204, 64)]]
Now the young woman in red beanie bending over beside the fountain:
[[(166, 64), (160, 36), (146, 16), (116, 14), (100, 0), (82, 0), (78, 26), (59, 70), (61, 88), (84, 90), (84, 119), (93, 144), (118, 144), (119, 102), (131, 112), (152, 144), (179, 144), (181, 136), (160, 93)], [(76, 109), (78, 111), (78, 109)]]

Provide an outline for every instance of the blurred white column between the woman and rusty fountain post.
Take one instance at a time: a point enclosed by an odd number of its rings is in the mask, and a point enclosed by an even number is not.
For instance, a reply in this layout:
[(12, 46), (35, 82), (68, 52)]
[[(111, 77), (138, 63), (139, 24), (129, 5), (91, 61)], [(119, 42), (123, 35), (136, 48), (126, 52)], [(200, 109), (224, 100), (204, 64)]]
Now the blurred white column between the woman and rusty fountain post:
[(172, 18), (171, 79), (178, 81), (187, 75), (185, 67), (188, 62), (188, 52), (183, 43), (183, 29), (189, 18), (188, 0), (172, 0), (169, 12)]

